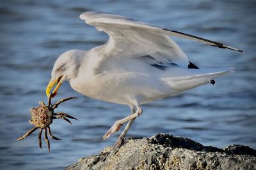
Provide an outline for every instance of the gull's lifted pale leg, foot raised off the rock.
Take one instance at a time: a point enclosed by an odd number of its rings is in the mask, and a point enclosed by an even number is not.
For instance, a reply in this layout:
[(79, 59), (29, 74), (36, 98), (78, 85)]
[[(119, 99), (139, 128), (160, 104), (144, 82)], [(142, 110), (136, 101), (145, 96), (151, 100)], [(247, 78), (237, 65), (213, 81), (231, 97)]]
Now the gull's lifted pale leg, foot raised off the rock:
[[(142, 110), (140, 106), (136, 106), (136, 112), (133, 113), (132, 115), (125, 117), (123, 119), (117, 120), (115, 122), (115, 124), (112, 125), (112, 127), (108, 130), (108, 132), (106, 132), (106, 134), (104, 134), (104, 136), (102, 137), (103, 140), (106, 140), (109, 138), (109, 136), (111, 136), (111, 134), (113, 134), (114, 132), (119, 131), (120, 127), (127, 121), (132, 120), (138, 116), (140, 116), (142, 114)], [(131, 126), (131, 125), (130, 125)], [(127, 130), (128, 131), (128, 130)]]

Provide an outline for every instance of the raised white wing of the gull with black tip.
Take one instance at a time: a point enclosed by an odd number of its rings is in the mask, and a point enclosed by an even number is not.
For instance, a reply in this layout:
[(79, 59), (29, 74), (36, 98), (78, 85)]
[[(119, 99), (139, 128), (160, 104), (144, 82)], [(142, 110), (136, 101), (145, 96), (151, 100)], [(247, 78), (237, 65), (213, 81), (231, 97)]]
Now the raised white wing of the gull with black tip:
[(170, 31), (120, 15), (88, 11), (81, 14), (80, 18), (85, 20), (86, 24), (93, 25), (98, 31), (104, 31), (109, 35), (108, 42), (102, 46), (104, 55), (109, 57), (150, 55), (157, 63), (174, 63), (187, 67), (189, 64), (188, 57), (169, 36), (188, 38), (207, 45), (242, 52), (208, 39)]

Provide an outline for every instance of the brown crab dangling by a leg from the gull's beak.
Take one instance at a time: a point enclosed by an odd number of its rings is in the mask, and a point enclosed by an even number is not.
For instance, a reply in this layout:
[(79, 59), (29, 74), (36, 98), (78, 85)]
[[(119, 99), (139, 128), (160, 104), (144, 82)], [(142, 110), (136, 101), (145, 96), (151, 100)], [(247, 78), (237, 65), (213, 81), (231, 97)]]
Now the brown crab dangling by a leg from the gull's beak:
[(36, 131), (36, 129), (40, 129), (40, 131), (38, 133), (38, 143), (39, 143), (39, 147), (42, 148), (41, 136), (42, 136), (42, 132), (44, 130), (44, 138), (45, 138), (45, 142), (47, 143), (48, 152), (50, 152), (50, 142), (49, 142), (49, 139), (47, 136), (47, 132), (52, 139), (61, 140), (60, 138), (53, 136), (51, 133), (50, 125), (52, 124), (52, 120), (61, 118), (62, 120), (65, 120), (69, 124), (71, 124), (71, 122), (70, 122), (70, 120), (68, 120), (68, 118), (77, 120), (77, 118), (72, 117), (72, 116), (68, 115), (67, 113), (62, 113), (62, 112), (54, 113), (54, 110), (56, 108), (58, 108), (59, 104), (65, 102), (65, 101), (68, 101), (70, 99), (75, 99), (76, 97), (67, 97), (65, 99), (60, 99), (55, 104), (51, 104), (51, 96), (52, 96), (52, 94), (50, 94), (48, 97), (47, 106), (45, 105), (44, 102), (40, 101), (39, 102), (40, 106), (38, 106), (36, 108), (32, 108), (30, 110), (31, 120), (29, 120), (29, 123), (35, 125), (35, 127), (30, 129), (28, 132), (26, 132), (26, 134), (24, 134), (23, 136), (21, 136), (20, 138), (17, 139), (18, 141), (21, 141), (22, 139), (27, 138), (31, 133)]

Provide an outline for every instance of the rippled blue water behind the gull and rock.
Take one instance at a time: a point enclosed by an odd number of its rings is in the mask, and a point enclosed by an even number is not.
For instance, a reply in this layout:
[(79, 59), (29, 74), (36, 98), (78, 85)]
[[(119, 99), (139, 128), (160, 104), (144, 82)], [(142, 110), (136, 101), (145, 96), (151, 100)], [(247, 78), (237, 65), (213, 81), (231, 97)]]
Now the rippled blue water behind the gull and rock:
[(1, 169), (61, 169), (80, 157), (98, 153), (115, 143), (100, 137), (129, 108), (94, 101), (64, 83), (59, 98), (78, 99), (63, 104), (79, 118), (72, 125), (55, 120), (51, 153), (37, 132), (16, 141), (31, 129), (29, 108), (46, 101), (45, 87), (61, 53), (102, 45), (108, 36), (79, 19), (84, 11), (98, 10), (195, 34), (244, 50), (233, 52), (175, 38), (189, 59), (200, 67), (236, 67), (236, 73), (177, 96), (145, 104), (144, 113), (128, 137), (159, 132), (192, 138), (204, 145), (233, 143), (256, 148), (256, 29), (255, 1), (2, 1), (0, 4), (0, 164)]

